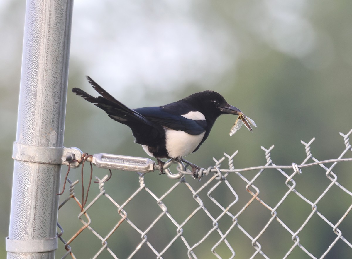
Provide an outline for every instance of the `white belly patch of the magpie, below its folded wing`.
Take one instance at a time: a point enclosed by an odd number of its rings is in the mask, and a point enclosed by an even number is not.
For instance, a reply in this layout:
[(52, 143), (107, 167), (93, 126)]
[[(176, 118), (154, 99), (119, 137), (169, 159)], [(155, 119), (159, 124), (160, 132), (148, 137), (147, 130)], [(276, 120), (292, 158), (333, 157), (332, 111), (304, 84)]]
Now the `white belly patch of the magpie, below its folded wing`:
[(170, 158), (182, 158), (192, 153), (202, 141), (205, 132), (190, 135), (184, 131), (166, 130), (166, 150)]

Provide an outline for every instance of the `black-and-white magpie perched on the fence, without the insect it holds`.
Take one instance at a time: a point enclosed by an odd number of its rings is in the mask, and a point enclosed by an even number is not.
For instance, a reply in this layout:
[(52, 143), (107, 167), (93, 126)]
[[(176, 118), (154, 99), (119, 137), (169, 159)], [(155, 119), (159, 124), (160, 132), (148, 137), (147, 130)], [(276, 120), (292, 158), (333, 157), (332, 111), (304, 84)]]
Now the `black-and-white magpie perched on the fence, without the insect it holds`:
[(160, 159), (168, 158), (186, 162), (196, 176), (200, 168), (183, 157), (198, 150), (221, 114), (243, 114), (213, 91), (191, 94), (163, 106), (130, 109), (90, 77), (87, 79), (101, 96), (93, 97), (80, 88), (72, 91), (103, 109), (110, 118), (130, 127), (135, 142), (141, 144), (148, 155), (157, 158), (161, 173), (163, 162)]

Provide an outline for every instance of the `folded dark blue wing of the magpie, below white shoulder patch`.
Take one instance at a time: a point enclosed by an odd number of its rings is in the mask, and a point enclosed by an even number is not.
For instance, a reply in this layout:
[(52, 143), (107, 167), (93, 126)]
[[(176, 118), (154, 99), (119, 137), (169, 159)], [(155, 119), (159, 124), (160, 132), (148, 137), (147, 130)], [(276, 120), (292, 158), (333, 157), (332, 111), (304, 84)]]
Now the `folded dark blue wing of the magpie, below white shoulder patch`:
[[(169, 109), (165, 107), (137, 108), (134, 109), (134, 111), (157, 124), (172, 130), (184, 131), (190, 135), (199, 135), (206, 129), (205, 120), (187, 119), (177, 114), (180, 111), (176, 113), (175, 111), (169, 111)], [(186, 114), (186, 112), (184, 112), (184, 114)]]

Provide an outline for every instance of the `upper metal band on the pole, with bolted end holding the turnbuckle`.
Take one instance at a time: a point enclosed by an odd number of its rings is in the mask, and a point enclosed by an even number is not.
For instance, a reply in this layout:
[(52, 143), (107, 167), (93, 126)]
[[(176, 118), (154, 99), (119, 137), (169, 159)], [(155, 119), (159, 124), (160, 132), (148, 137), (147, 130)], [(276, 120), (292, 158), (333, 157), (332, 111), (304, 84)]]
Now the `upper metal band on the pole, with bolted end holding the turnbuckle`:
[[(39, 164), (69, 165), (74, 159), (80, 160), (82, 154), (82, 151), (75, 147), (37, 147), (14, 142), (12, 158)], [(76, 168), (80, 164), (73, 162), (70, 166)]]

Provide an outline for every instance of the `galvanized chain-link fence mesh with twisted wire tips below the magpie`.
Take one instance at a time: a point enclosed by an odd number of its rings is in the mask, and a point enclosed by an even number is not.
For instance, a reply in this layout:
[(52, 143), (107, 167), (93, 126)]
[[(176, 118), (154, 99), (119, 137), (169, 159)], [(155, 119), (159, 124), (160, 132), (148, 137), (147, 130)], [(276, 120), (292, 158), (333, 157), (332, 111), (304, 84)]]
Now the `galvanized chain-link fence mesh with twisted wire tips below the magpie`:
[[(214, 159), (213, 167), (202, 170), (207, 176), (201, 182), (186, 175), (156, 185), (137, 173), (135, 185), (116, 184), (106, 182), (106, 175), (96, 178), (98, 184), (91, 187), (91, 191), (96, 188), (92, 191), (95, 197), (82, 211), (75, 194), (79, 180), (67, 179), (67, 198), (60, 197), (65, 200), (59, 206), (58, 237), (63, 245), (56, 255), (348, 258), (352, 254), (352, 218), (348, 216), (352, 209), (351, 133), (340, 133), (345, 148), (332, 160), (313, 157), (313, 138), (308, 143), (301, 141), (306, 159), (299, 165), (275, 165), (270, 154), (273, 145), (262, 147), (264, 166), (235, 169), (238, 152), (225, 154)], [(228, 169), (221, 168), (225, 163)], [(179, 167), (176, 170), (182, 172)], [(246, 177), (240, 173), (244, 171), (250, 171)], [(337, 175), (342, 181), (337, 181)], [(77, 215), (80, 221), (74, 220)]]

